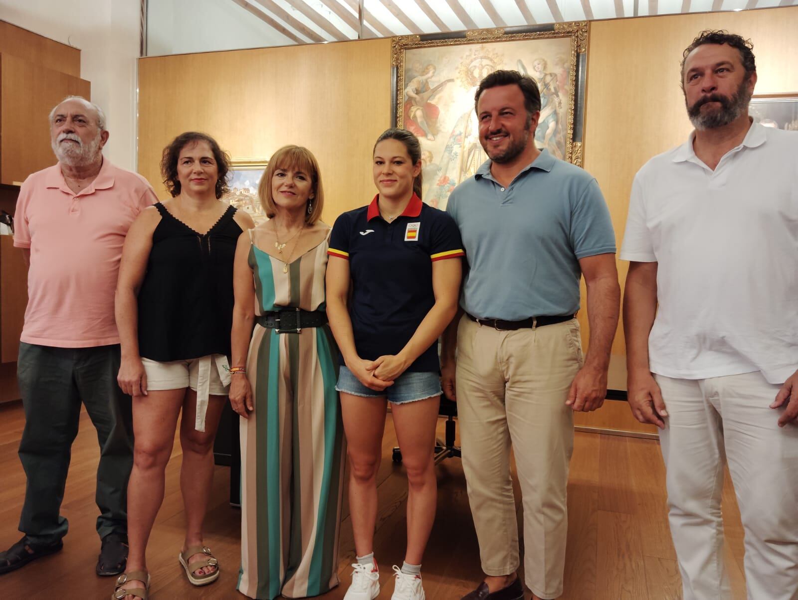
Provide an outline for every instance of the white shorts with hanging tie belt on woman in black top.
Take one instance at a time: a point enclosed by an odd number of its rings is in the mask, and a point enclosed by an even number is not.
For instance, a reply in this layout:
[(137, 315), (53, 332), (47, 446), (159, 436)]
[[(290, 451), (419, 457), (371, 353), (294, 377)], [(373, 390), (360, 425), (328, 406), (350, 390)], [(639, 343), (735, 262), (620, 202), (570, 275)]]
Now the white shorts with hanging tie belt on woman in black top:
[(197, 393), (194, 428), (205, 431), (208, 396), (227, 396), (230, 391), (230, 365), (224, 354), (208, 354), (190, 361), (158, 362), (141, 357), (147, 374), (147, 389), (191, 388)]

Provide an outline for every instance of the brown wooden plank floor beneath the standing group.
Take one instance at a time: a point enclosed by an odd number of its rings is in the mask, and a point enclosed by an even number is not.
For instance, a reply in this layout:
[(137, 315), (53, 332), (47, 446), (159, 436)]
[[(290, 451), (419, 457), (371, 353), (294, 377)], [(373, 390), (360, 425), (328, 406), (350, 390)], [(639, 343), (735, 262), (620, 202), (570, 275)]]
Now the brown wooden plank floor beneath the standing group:
[[(17, 456), (22, 425), (21, 405), (0, 405), (2, 549), (21, 535), (16, 526), (25, 491), (25, 476)], [(440, 425), (442, 432), (442, 420)], [(384, 600), (393, 593), (390, 566), (401, 564), (405, 546), (407, 486), (403, 468), (391, 462), (390, 449), (394, 440), (389, 420), (378, 476), (380, 511), (375, 539), (375, 553), (381, 566), (379, 598)], [(0, 576), (0, 598), (3, 600), (109, 598), (113, 578), (99, 578), (94, 574), (99, 551), (94, 529), (97, 518), (94, 477), (98, 454), (97, 436), (83, 413), (81, 430), (73, 445), (72, 468), (62, 507), (62, 513), (69, 519), (64, 550)], [(229, 468), (216, 468), (206, 521), (205, 541), (222, 565), (219, 580), (211, 586), (195, 588), (187, 582), (177, 563), (184, 527), (178, 488), (180, 461), (180, 448), (176, 444), (167, 469), (166, 498), (148, 548), (151, 598), (243, 598), (235, 591), (240, 522), (239, 511), (227, 503)], [(445, 460), (437, 472), (438, 511), (424, 561), (425, 590), (429, 600), (457, 600), (480, 580), (479, 552), (460, 460)], [(734, 597), (745, 598), (742, 528), (728, 476), (724, 503), (726, 558)], [(678, 567), (666, 521), (665, 470), (656, 441), (577, 433), (568, 484), (568, 510), (562, 598), (681, 598)], [(343, 585), (321, 598), (343, 598), (353, 560), (352, 528), (345, 505), (339, 565)]]

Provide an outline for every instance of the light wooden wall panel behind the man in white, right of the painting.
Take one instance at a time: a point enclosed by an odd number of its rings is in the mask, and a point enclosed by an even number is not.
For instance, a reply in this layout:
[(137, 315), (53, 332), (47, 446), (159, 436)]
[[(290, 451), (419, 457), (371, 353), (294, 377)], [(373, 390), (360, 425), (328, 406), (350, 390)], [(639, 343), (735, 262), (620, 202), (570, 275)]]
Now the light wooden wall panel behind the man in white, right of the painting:
[[(755, 93), (798, 93), (792, 60), (798, 56), (798, 6), (591, 23), (584, 167), (610, 205), (618, 248), (634, 174), (651, 157), (683, 143), (693, 129), (679, 87), (681, 53), (705, 29), (753, 41)], [(627, 268), (618, 262), (622, 284)], [(587, 315), (580, 317), (587, 334)], [(613, 353), (621, 360), (626, 354), (620, 327)]]

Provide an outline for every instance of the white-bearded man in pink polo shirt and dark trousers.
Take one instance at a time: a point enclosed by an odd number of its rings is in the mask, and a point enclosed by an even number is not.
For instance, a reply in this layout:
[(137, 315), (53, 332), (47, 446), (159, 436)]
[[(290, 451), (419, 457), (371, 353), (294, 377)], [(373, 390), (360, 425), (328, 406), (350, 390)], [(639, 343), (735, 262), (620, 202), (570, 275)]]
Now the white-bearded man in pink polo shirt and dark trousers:
[(67, 97), (49, 122), (58, 164), (26, 179), (15, 215), (14, 246), (30, 265), (17, 373), (27, 488), (19, 522), (25, 535), (0, 552), (0, 574), (63, 547), (68, 523), (61, 500), (82, 402), (101, 449), (97, 574), (113, 575), (127, 561), (133, 447), (130, 397), (117, 385), (113, 295), (124, 236), (156, 195), (143, 177), (103, 158), (109, 132), (100, 107)]

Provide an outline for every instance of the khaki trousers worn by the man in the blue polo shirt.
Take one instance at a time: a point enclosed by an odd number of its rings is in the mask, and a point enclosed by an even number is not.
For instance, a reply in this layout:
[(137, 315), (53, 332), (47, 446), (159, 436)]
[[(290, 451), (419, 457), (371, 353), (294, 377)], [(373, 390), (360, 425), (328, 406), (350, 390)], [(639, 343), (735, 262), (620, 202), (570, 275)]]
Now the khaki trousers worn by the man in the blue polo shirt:
[(504, 575), (519, 567), (512, 446), (523, 496), (525, 579), (540, 598), (563, 593), (574, 448), (565, 401), (582, 363), (576, 319), (497, 331), (464, 316), (457, 330), (457, 413), (482, 570)]

